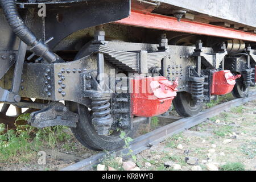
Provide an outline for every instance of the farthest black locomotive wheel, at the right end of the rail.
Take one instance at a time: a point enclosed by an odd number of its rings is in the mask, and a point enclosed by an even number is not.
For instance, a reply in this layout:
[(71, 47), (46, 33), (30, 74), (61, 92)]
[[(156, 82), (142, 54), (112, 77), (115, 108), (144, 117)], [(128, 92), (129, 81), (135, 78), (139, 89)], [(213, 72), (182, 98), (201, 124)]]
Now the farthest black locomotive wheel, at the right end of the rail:
[(236, 85), (232, 90), (232, 94), (235, 98), (243, 98), (246, 97), (250, 91), (250, 86), (246, 86), (243, 84), (243, 77), (240, 77), (236, 81)]

